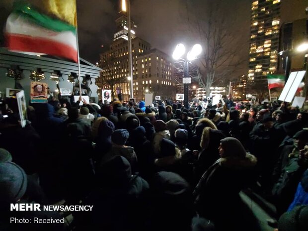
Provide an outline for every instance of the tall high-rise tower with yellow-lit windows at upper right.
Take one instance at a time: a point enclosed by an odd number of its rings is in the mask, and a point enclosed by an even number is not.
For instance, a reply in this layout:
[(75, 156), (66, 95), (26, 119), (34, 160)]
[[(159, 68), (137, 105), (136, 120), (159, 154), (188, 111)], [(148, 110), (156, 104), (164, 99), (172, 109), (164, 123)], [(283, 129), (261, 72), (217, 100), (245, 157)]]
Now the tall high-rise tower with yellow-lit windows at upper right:
[(280, 0), (254, 0), (251, 3), (249, 84), (266, 87), (266, 75), (277, 70), (280, 5)]

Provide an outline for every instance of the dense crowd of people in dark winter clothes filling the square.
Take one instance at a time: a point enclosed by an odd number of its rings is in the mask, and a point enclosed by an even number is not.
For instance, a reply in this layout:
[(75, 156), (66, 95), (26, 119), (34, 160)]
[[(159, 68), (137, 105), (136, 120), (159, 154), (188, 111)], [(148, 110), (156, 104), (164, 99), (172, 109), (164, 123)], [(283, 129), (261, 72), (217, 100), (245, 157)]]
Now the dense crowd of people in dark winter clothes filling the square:
[[(308, 230), (308, 114), (298, 108), (52, 98), (30, 104), (22, 128), (16, 99), (2, 105), (0, 230), (257, 230), (246, 188), (276, 206), (279, 231)], [(73, 212), (70, 227), (8, 224), (61, 217), (10, 203), (62, 200), (93, 210)]]

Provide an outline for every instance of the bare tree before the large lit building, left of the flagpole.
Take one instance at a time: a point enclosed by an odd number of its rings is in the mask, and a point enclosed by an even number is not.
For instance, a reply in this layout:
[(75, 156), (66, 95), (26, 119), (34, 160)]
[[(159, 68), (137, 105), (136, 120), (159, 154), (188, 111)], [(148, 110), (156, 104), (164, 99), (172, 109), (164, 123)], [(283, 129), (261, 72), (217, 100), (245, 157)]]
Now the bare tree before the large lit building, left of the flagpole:
[(103, 71), (100, 72), (96, 85), (102, 89), (111, 90), (112, 99), (115, 98), (116, 85), (127, 83), (127, 77), (122, 76), (122, 73), (120, 74), (117, 70), (118, 63), (123, 63), (123, 59), (116, 59), (113, 55), (108, 59), (101, 57), (99, 63), (99, 67), (103, 69)]

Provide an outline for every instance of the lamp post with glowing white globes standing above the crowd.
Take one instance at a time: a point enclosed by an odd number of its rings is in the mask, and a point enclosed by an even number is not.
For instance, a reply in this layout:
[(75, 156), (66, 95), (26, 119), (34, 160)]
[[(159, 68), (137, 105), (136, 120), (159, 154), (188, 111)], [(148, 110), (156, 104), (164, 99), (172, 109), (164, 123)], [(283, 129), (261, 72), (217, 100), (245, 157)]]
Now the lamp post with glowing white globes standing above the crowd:
[(189, 78), (189, 69), (188, 64), (191, 63), (194, 59), (197, 58), (198, 55), (201, 54), (202, 47), (200, 44), (195, 44), (190, 51), (187, 53), (187, 60), (181, 58), (182, 55), (185, 53), (185, 46), (182, 43), (176, 45), (172, 58), (176, 60), (177, 63), (183, 63), (184, 67), (184, 78), (183, 78), (183, 85), (184, 85), (184, 107), (188, 107), (188, 89), (189, 84), (191, 83), (191, 79)]

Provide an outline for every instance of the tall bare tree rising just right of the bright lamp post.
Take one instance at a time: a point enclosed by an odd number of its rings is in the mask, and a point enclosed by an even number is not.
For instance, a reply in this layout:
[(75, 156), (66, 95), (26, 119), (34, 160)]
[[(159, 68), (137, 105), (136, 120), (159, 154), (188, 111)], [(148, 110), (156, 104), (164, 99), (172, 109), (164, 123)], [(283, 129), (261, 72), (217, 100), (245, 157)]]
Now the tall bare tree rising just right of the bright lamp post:
[[(191, 2), (196, 3), (194, 0)], [(213, 85), (219, 85), (244, 61), (238, 57), (242, 44), (237, 44), (234, 27), (226, 20), (228, 9), (221, 2), (206, 1), (205, 8), (186, 4), (188, 28), (192, 35), (197, 36), (203, 48), (199, 59), (200, 69), (195, 78), (206, 90), (207, 97)]]

